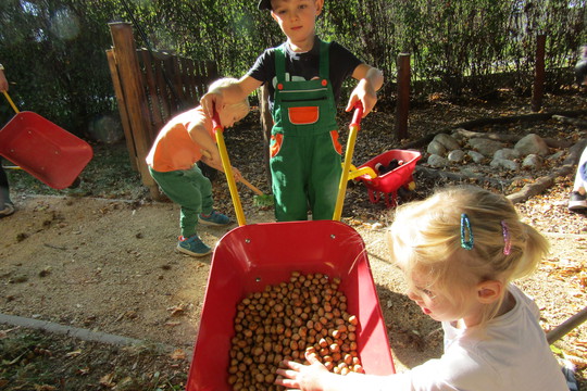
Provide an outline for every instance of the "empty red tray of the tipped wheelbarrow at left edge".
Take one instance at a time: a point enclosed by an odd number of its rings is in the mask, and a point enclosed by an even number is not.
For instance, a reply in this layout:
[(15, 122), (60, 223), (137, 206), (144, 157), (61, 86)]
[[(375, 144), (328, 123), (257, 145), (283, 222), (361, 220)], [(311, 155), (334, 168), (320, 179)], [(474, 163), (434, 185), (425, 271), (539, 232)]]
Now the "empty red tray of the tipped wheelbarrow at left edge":
[(33, 112), (0, 129), (0, 155), (54, 189), (70, 187), (92, 154), (86, 141)]

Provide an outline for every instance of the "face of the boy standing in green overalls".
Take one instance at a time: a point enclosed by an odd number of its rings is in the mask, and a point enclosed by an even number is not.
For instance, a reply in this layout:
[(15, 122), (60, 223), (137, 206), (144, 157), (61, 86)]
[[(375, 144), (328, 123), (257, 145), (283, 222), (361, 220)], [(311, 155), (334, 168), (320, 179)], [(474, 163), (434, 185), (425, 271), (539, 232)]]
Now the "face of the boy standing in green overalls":
[(309, 38), (313, 41), (315, 20), (324, 0), (272, 0), (271, 4), (271, 16), (291, 42)]

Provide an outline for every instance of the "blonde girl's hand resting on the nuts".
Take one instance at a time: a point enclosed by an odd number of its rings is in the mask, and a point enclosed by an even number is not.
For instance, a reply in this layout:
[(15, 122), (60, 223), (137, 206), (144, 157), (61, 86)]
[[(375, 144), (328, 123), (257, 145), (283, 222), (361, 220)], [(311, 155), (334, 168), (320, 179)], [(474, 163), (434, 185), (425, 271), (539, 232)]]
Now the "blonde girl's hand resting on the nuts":
[(321, 391), (324, 379), (332, 376), (324, 365), (317, 360), (315, 353), (305, 354), (305, 360), (310, 365), (284, 361), (282, 364), (287, 369), (277, 369), (277, 375), (284, 378), (275, 379), (275, 384), (284, 386), (288, 390)]

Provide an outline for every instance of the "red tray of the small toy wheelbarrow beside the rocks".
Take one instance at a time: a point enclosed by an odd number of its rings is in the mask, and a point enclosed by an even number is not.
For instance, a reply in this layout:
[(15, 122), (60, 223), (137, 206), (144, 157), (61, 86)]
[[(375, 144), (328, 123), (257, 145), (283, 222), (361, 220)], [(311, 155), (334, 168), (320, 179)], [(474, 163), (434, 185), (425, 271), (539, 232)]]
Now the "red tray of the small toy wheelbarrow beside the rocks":
[(378, 175), (375, 178), (370, 177), (369, 175), (362, 175), (357, 177), (358, 180), (361, 180), (367, 189), (373, 191), (380, 191), (385, 193), (390, 193), (397, 191), (401, 186), (409, 184), (412, 180), (412, 173), (414, 172), (415, 165), (421, 157), (421, 153), (417, 151), (408, 151), (408, 150), (389, 150), (382, 153), (364, 163), (359, 167), (371, 167), (377, 173), (375, 165), (382, 163), (384, 166), (387, 166), (394, 159), (398, 161), (402, 160), (403, 164), (399, 167)]

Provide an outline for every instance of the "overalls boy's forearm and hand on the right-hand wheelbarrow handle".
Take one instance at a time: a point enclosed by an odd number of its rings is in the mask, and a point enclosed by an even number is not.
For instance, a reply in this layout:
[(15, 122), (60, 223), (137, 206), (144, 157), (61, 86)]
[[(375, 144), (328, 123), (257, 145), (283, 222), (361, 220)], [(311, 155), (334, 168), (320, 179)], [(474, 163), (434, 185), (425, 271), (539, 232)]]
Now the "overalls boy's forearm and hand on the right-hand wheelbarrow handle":
[(354, 108), (354, 103), (361, 101), (363, 103), (363, 117), (365, 117), (371, 113), (375, 103), (377, 103), (376, 91), (383, 86), (383, 72), (367, 64), (361, 64), (357, 66), (352, 73), (352, 77), (359, 80), (359, 83), (350, 94), (346, 111), (351, 111)]

